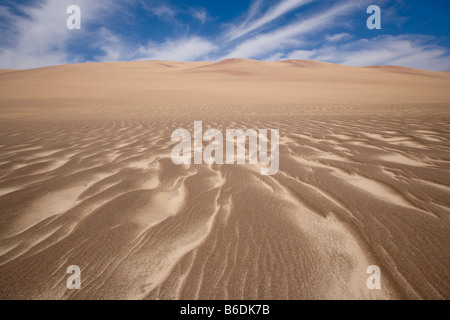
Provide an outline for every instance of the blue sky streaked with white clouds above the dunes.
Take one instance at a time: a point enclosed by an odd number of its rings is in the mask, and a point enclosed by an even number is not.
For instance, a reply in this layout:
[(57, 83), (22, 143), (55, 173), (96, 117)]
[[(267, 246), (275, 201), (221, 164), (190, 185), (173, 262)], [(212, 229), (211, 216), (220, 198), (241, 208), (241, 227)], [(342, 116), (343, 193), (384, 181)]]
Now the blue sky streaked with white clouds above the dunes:
[(449, 0), (0, 0), (0, 68), (245, 58), (450, 71), (449, 14)]

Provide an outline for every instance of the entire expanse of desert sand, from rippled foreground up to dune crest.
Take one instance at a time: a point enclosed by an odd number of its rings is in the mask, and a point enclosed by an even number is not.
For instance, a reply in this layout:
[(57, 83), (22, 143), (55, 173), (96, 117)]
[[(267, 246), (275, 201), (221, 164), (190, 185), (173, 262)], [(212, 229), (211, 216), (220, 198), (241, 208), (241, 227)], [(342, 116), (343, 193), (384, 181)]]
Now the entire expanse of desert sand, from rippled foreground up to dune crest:
[[(308, 61), (0, 74), (0, 299), (449, 299), (449, 88)], [(195, 120), (280, 129), (280, 172), (174, 166)]]

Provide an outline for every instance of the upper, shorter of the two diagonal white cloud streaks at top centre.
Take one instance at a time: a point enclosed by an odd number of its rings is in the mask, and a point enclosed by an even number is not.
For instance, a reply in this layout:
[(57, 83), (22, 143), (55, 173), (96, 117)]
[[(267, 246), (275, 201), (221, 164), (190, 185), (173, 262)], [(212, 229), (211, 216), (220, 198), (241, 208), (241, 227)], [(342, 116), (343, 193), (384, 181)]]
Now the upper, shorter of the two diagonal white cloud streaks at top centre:
[(256, 15), (256, 11), (261, 6), (261, 1), (255, 2), (251, 7), (247, 19), (241, 25), (231, 28), (227, 33), (229, 40), (239, 39), (246, 34), (258, 30), (266, 24), (276, 20), (277, 18), (285, 15), (286, 13), (297, 9), (313, 0), (283, 0), (277, 5), (270, 8), (262, 17), (253, 20), (252, 17)]

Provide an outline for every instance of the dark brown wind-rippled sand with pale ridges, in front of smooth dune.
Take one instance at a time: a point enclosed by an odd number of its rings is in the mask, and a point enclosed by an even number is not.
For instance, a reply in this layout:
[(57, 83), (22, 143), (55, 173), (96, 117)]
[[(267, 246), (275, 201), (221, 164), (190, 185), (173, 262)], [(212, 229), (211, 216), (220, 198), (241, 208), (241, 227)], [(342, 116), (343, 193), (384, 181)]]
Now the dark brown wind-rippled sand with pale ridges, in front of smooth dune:
[(174, 166), (170, 133), (194, 119), (3, 127), (1, 297), (449, 298), (442, 118), (205, 121), (280, 128), (273, 177)]

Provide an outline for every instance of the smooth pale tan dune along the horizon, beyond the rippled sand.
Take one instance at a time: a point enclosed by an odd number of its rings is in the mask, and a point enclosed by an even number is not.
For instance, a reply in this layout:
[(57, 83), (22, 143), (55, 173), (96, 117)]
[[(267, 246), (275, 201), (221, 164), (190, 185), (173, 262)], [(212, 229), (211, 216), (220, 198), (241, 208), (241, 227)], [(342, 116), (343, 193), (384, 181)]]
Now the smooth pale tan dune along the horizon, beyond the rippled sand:
[[(314, 61), (142, 61), (64, 65), (3, 74), (2, 99), (145, 103), (446, 103), (450, 76), (402, 67)], [(171, 94), (167, 94), (171, 93)], [(325, 94), (326, 93), (326, 94)]]

